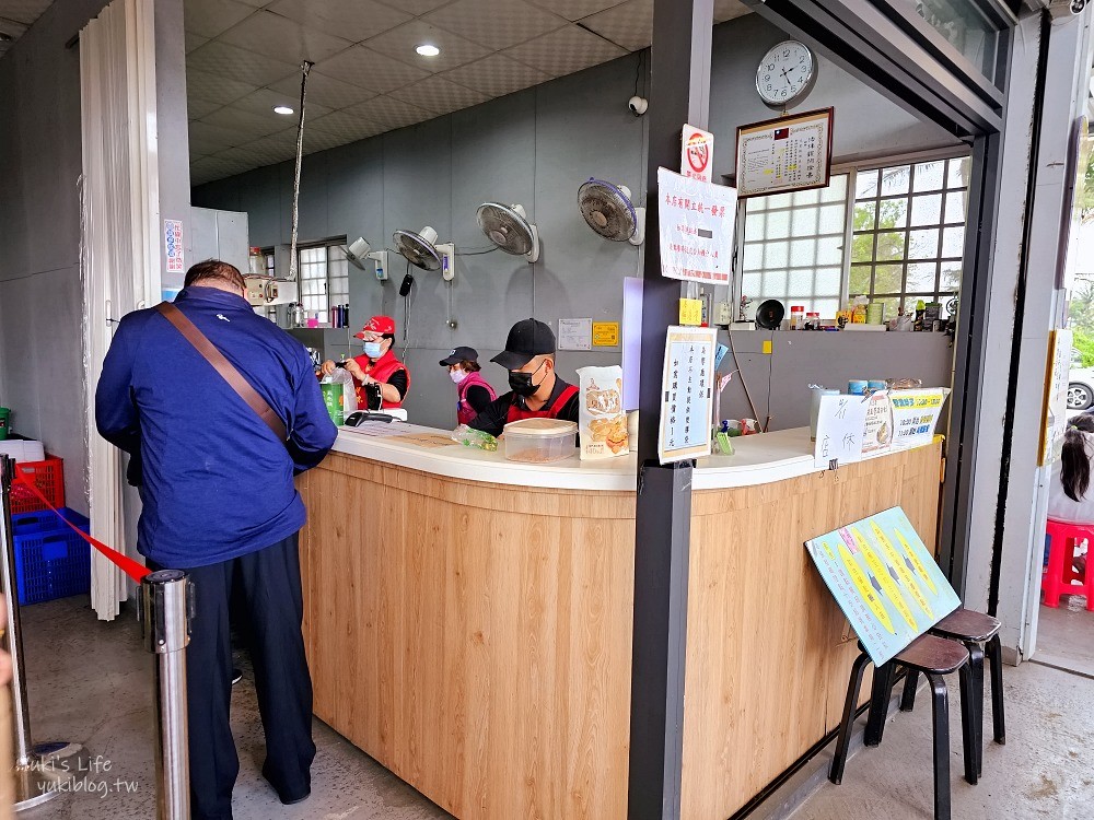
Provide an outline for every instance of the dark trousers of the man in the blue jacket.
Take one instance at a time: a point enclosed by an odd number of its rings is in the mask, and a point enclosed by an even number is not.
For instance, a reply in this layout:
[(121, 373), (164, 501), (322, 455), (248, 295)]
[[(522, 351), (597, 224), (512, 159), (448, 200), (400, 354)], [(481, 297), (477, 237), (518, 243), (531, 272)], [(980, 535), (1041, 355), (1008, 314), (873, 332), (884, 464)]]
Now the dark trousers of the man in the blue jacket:
[(186, 570), (196, 587), (197, 613), (186, 651), (191, 820), (232, 820), (232, 788), (240, 772), (229, 719), (233, 609), (246, 618), (266, 734), (263, 776), (282, 801), (304, 797), (311, 789), (315, 743), (296, 535), (219, 564), (170, 569)]

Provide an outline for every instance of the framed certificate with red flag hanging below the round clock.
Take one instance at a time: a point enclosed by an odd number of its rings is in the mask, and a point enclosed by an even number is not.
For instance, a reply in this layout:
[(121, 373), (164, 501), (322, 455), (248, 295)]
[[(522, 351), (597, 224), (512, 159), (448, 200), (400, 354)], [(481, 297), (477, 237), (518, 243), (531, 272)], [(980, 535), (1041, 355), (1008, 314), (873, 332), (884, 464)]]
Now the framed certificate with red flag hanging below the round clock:
[(833, 112), (824, 108), (737, 128), (737, 197), (827, 186)]

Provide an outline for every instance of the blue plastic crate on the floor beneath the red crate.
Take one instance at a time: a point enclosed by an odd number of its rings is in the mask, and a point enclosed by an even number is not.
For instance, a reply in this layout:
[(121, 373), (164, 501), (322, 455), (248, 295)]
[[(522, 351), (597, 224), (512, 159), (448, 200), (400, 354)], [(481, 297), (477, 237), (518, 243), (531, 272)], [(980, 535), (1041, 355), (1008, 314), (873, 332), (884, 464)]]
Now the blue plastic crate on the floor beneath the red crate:
[[(79, 513), (61, 511), (84, 532), (88, 519)], [(50, 527), (48, 518), (53, 518)], [(15, 581), (20, 606), (54, 598), (67, 598), (91, 589), (91, 544), (66, 527), (53, 513), (12, 516), (15, 544)], [(22, 535), (20, 534), (22, 529)]]

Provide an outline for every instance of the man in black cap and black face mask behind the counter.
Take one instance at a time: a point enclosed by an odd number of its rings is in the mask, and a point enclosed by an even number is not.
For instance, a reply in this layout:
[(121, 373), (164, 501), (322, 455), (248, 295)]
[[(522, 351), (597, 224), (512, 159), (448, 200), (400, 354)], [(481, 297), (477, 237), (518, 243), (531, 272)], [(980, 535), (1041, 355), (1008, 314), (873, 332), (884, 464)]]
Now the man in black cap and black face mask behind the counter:
[(513, 325), (505, 349), (490, 360), (509, 371), (510, 391), (470, 422), (490, 435), (521, 419), (578, 420), (578, 388), (555, 373), (555, 333), (536, 319)]

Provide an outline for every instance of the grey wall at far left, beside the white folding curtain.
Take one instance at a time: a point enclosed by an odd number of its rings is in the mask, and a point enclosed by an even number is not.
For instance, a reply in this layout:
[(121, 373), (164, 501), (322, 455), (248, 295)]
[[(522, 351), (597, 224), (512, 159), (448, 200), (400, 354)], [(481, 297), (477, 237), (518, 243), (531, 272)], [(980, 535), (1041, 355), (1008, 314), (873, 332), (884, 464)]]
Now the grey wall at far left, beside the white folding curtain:
[(0, 59), (0, 403), (65, 459), (86, 512), (80, 286), (80, 55), (68, 43), (106, 3), (54, 3)]

